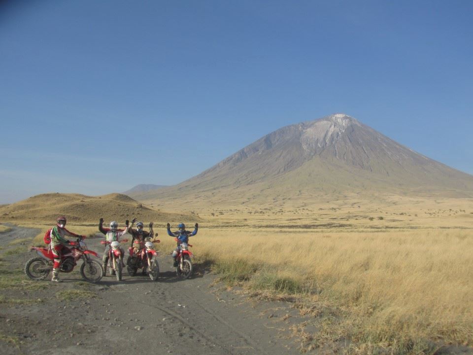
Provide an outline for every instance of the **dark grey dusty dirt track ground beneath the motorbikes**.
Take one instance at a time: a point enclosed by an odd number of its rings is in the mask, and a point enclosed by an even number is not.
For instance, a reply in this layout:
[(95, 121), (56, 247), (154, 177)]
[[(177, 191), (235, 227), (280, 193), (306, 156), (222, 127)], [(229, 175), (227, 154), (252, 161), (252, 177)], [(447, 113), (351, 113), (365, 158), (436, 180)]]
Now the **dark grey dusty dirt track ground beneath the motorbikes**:
[[(22, 268), (35, 254), (25, 250), (38, 231), (11, 227), (0, 233), (3, 355), (299, 353), (287, 330), (301, 321), (291, 304), (248, 301), (203, 267), (180, 281), (164, 252), (157, 282), (124, 275), (89, 284), (78, 268), (60, 274), (61, 284), (28, 281)], [(103, 248), (98, 239), (88, 247)]]

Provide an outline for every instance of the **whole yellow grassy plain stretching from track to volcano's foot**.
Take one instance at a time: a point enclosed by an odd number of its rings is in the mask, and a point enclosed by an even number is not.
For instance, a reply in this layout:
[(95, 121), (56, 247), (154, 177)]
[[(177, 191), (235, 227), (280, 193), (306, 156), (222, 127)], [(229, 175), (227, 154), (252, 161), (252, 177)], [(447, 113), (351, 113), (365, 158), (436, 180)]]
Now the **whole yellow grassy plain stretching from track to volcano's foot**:
[[(302, 353), (472, 353), (472, 199), (172, 207), (162, 209), (187, 216), (188, 226), (199, 222), (192, 251), (220, 282), (293, 304), (301, 320), (287, 330)], [(68, 227), (94, 235), (95, 217)], [(181, 220), (161, 219), (157, 248), (167, 252), (174, 242), (165, 223)], [(51, 225), (9, 222), (39, 228), (34, 244)]]

